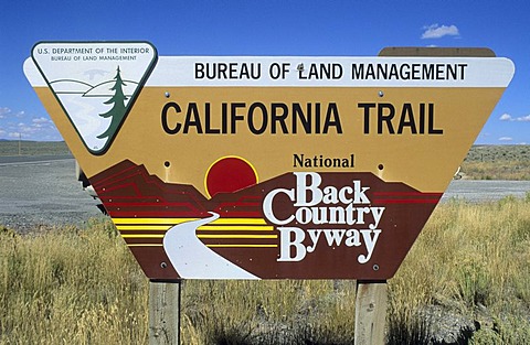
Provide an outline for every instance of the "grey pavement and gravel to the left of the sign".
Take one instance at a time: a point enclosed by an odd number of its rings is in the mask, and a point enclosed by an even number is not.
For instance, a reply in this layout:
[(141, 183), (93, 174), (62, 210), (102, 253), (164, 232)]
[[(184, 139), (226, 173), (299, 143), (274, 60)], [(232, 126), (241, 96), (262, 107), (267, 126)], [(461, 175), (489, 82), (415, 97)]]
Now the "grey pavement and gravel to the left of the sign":
[(75, 179), (72, 157), (0, 158), (0, 225), (26, 231), (100, 217)]

